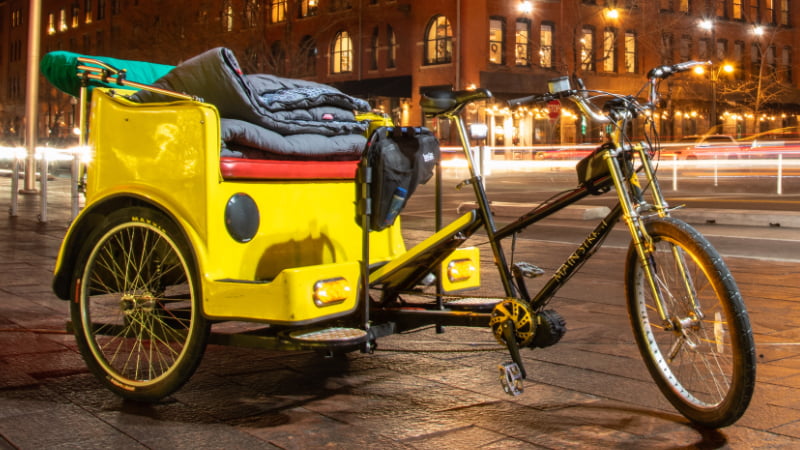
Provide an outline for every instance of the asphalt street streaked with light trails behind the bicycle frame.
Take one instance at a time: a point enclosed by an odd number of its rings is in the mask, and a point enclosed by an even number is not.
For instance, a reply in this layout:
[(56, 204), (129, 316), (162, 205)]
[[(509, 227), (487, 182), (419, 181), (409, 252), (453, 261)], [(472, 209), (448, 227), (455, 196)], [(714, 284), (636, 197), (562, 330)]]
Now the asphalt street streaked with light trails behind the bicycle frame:
[[(486, 189), (493, 202), (520, 205), (498, 208), (499, 225), (510, 222), (529, 207), (576, 184), (574, 161), (558, 164), (523, 161), (496, 163), (486, 175)], [(750, 163), (750, 162), (748, 162)], [(452, 164), (452, 163), (451, 163)], [(713, 167), (713, 162), (664, 165), (659, 170), (662, 191), (671, 206), (685, 210), (800, 211), (800, 167), (786, 167), (781, 178), (782, 192), (776, 188), (776, 174), (766, 173), (766, 162), (749, 168), (742, 165)], [(795, 163), (796, 164), (796, 163)], [(674, 169), (674, 170), (673, 170)], [(751, 170), (752, 169), (752, 170)], [(677, 176), (676, 176), (677, 175)], [(442, 173), (442, 205), (447, 223), (457, 216), (459, 206), (474, 202), (470, 186), (457, 190), (466, 178), (466, 169), (445, 168)], [(673, 182), (674, 181), (674, 182)], [(584, 207), (613, 206), (613, 191), (591, 196), (578, 205)], [(420, 186), (403, 212), (405, 228), (432, 230), (435, 216), (435, 183)], [(522, 205), (529, 205), (523, 207)], [(746, 213), (745, 213), (746, 214)], [(536, 240), (577, 245), (596, 225), (596, 220), (582, 220), (555, 215), (526, 229), (521, 236)], [(800, 260), (800, 229), (781, 226), (737, 226), (693, 223), (724, 256), (740, 256), (759, 260)], [(618, 225), (604, 245), (627, 247), (630, 238), (623, 225)]]

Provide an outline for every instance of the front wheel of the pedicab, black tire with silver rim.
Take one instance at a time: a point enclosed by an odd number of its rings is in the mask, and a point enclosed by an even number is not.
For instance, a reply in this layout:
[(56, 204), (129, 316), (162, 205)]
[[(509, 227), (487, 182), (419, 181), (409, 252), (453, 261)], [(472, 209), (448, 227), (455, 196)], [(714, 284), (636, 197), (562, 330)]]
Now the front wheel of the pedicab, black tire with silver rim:
[(663, 300), (631, 245), (626, 261), (628, 314), (650, 374), (670, 403), (706, 427), (724, 427), (747, 409), (755, 386), (755, 344), (739, 289), (722, 258), (688, 224), (646, 223), (646, 252)]

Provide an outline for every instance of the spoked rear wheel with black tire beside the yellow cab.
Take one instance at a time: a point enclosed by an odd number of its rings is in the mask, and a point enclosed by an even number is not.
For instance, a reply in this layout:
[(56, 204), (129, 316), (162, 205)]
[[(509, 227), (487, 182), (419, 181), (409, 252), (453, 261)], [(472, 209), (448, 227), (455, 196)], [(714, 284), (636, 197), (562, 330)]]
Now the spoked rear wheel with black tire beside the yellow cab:
[(123, 398), (175, 392), (197, 369), (210, 331), (187, 239), (163, 213), (129, 207), (85, 242), (70, 315), (89, 370)]

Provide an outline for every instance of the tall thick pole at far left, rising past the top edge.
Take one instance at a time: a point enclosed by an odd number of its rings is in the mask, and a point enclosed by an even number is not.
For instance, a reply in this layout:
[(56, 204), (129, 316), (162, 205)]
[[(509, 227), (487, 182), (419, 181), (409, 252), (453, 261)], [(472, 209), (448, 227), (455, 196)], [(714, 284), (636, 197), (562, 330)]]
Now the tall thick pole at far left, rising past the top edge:
[[(36, 192), (36, 137), (39, 123), (39, 43), (41, 40), (42, 0), (31, 0), (28, 18), (28, 88), (26, 101), (25, 144), (28, 157), (25, 161), (23, 192)], [(47, 174), (42, 174), (46, 177)]]

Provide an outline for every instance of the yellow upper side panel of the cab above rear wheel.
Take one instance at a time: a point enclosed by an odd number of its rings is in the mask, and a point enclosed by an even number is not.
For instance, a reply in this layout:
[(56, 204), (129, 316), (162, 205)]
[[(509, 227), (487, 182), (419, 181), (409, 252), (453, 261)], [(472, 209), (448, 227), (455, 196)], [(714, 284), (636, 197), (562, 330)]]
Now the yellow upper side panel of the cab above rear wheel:
[[(139, 104), (109, 92), (92, 95), (87, 206), (119, 193), (143, 195), (205, 239), (203, 193), (219, 178), (216, 108), (190, 101)], [(209, 155), (212, 149), (216, 154)]]

